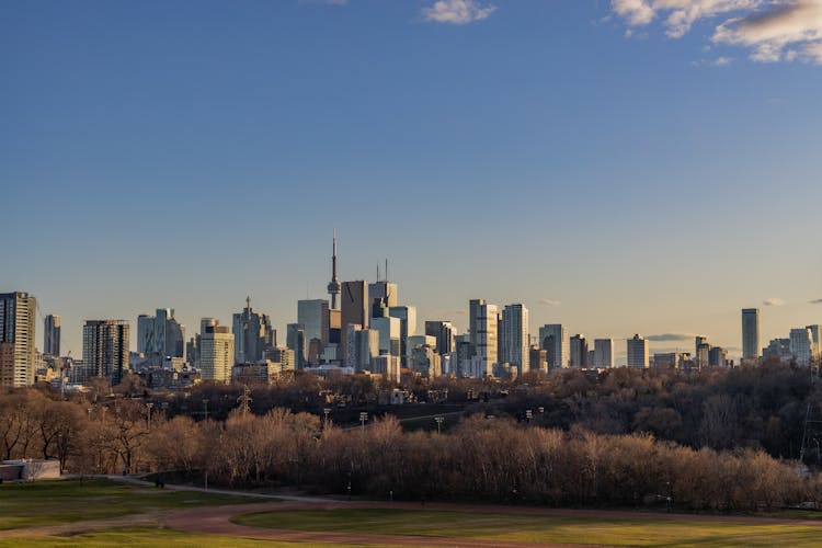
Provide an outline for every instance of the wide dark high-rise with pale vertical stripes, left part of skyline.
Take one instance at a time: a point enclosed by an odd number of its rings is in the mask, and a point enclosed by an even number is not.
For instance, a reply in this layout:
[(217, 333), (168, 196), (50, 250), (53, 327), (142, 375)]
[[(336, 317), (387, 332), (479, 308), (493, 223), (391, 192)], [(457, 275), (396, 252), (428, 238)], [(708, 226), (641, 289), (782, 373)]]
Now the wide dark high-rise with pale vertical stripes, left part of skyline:
[(83, 326), (83, 366), (89, 377), (118, 385), (128, 373), (129, 329), (125, 320), (88, 320)]

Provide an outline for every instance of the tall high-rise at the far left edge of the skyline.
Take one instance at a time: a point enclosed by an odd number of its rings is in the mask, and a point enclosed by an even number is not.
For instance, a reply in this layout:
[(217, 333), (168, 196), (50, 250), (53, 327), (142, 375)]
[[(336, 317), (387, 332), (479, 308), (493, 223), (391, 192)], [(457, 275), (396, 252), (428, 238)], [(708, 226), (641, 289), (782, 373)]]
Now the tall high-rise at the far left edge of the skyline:
[(0, 294), (0, 387), (34, 384), (37, 299), (27, 293)]

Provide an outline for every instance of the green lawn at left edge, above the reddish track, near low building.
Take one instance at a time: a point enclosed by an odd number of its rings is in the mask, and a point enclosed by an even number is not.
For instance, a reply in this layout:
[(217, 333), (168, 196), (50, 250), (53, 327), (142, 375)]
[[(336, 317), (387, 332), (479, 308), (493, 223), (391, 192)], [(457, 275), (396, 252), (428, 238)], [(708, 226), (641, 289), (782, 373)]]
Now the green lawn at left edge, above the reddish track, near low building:
[(244, 496), (142, 488), (106, 480), (5, 482), (0, 484), (0, 529), (249, 502)]

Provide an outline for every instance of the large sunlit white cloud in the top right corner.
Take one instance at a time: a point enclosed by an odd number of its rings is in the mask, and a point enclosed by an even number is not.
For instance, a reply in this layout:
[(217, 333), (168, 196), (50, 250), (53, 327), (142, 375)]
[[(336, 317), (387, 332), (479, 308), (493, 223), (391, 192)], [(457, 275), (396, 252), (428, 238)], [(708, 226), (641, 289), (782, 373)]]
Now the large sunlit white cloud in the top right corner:
[(629, 31), (659, 19), (681, 38), (701, 22), (713, 25), (713, 44), (745, 47), (754, 61), (822, 65), (822, 0), (612, 0), (612, 9)]

